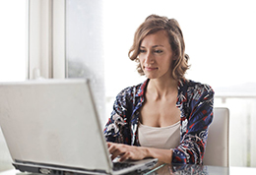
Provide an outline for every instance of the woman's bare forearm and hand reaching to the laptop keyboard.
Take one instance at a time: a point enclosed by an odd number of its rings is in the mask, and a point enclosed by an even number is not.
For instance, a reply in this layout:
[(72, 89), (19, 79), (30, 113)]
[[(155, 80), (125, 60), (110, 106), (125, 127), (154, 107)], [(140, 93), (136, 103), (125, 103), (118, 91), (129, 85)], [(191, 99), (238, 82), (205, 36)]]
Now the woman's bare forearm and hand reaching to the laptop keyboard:
[(122, 144), (107, 143), (111, 158), (119, 156), (120, 161), (126, 159), (141, 160), (148, 157), (158, 158), (160, 162), (171, 163), (172, 149), (160, 149), (144, 146), (127, 146)]

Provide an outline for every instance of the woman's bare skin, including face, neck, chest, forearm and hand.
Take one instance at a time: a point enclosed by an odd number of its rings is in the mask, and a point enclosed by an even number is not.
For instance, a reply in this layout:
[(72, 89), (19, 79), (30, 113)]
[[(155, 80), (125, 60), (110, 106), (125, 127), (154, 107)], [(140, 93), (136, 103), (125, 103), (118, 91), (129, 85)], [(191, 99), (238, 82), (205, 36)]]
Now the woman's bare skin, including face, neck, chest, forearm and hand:
[[(140, 122), (152, 127), (166, 127), (180, 119), (176, 108), (177, 81), (171, 76), (174, 56), (165, 30), (147, 35), (141, 43), (139, 60), (145, 75), (150, 79), (146, 100), (141, 109)], [(140, 160), (146, 157), (159, 158), (171, 163), (172, 149), (145, 146), (127, 146), (107, 143), (111, 158)]]

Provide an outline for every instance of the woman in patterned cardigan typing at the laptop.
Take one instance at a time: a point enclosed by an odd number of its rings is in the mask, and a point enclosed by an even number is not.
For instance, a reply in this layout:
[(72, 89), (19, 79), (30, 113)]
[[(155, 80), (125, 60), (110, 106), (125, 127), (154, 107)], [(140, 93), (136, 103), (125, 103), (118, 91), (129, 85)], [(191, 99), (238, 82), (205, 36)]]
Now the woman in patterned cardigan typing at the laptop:
[(214, 91), (185, 79), (188, 55), (178, 23), (149, 16), (135, 32), (129, 57), (148, 80), (116, 97), (104, 129), (112, 159), (202, 164)]

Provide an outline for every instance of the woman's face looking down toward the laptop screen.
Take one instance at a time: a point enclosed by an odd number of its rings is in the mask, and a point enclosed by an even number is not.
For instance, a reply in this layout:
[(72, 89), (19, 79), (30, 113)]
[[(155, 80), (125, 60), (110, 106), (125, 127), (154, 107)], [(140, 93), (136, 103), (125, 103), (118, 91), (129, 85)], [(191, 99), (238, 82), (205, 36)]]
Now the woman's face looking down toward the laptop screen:
[(149, 79), (167, 80), (171, 76), (173, 52), (165, 30), (147, 35), (141, 43), (139, 60)]

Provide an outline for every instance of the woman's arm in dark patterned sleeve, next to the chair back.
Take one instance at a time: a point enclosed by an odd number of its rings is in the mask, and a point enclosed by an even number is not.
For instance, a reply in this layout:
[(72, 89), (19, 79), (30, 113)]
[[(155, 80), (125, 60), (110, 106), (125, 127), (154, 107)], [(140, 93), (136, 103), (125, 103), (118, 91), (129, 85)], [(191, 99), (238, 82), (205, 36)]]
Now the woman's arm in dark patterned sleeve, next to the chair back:
[(172, 163), (202, 164), (208, 128), (213, 120), (214, 90), (197, 85), (186, 97), (190, 113), (181, 119), (183, 136), (180, 145), (173, 148)]

